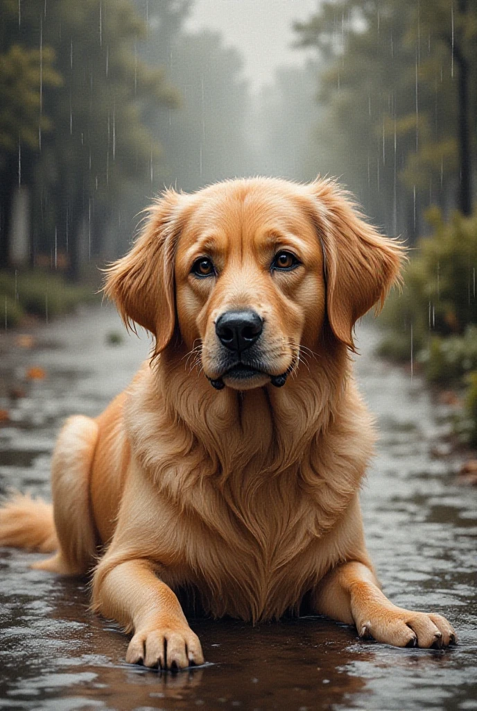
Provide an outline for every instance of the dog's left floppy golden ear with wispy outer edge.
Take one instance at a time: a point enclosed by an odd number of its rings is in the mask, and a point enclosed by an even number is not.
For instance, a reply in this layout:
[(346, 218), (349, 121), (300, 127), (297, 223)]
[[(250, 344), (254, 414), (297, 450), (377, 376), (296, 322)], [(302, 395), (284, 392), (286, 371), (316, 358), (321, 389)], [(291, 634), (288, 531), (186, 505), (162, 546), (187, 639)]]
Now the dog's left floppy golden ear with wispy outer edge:
[(175, 327), (179, 201), (178, 193), (165, 191), (148, 210), (146, 225), (131, 251), (106, 270), (104, 293), (115, 301), (126, 326), (134, 328), (134, 322), (153, 333), (155, 353), (168, 345)]

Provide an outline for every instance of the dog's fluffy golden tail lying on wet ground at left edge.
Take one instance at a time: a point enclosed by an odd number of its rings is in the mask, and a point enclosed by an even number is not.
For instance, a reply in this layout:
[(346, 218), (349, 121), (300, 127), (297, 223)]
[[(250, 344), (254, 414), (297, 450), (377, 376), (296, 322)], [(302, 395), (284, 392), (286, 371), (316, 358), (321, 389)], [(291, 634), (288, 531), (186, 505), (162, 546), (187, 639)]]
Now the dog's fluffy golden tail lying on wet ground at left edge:
[(57, 550), (52, 504), (29, 494), (13, 494), (0, 508), (0, 545), (42, 553)]

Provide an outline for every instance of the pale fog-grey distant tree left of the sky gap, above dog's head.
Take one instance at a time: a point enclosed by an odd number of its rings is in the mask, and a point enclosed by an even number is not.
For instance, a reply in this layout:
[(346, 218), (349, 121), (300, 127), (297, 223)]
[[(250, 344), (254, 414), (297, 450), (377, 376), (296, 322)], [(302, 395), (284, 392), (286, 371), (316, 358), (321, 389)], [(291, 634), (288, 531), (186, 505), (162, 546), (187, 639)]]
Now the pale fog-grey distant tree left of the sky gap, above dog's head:
[[(172, 16), (171, 5), (177, 13)], [(180, 21), (188, 5), (156, 8), (141, 52), (154, 65), (167, 55), (166, 76), (177, 87), (180, 106), (148, 114), (146, 122), (163, 137), (167, 182), (193, 191), (248, 172), (252, 159), (241, 55), (225, 47), (218, 33), (184, 33)]]

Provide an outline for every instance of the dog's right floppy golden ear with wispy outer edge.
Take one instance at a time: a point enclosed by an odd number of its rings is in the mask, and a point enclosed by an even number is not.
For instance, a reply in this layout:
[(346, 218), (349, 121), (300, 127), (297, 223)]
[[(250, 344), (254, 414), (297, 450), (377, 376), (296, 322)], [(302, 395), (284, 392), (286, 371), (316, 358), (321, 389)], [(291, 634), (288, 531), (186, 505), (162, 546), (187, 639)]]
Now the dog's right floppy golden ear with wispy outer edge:
[(307, 188), (324, 253), (329, 324), (354, 350), (354, 324), (371, 306), (382, 309), (390, 287), (400, 280), (405, 249), (369, 225), (334, 181), (318, 178)]

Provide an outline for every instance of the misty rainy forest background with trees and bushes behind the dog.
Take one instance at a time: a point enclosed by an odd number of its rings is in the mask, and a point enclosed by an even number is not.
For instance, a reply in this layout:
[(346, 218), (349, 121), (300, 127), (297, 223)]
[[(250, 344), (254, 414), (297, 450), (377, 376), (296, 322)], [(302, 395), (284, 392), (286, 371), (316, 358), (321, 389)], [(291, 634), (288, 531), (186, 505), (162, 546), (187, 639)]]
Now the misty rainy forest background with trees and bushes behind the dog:
[(90, 294), (164, 186), (328, 173), (415, 247), (382, 353), (465, 385), (477, 419), (476, 2), (317, 0), (292, 28), (302, 62), (255, 91), (247, 47), (192, 31), (193, 9), (0, 0), (5, 327)]

